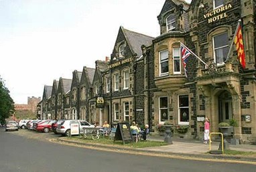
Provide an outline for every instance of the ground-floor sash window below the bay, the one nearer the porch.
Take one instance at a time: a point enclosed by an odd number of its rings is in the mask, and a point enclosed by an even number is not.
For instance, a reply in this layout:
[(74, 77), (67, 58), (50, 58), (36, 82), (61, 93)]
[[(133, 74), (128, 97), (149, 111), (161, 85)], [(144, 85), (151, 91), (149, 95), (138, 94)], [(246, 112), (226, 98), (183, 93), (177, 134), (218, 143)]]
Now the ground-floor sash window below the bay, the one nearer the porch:
[(189, 124), (189, 103), (188, 95), (178, 96), (178, 123), (188, 125)]

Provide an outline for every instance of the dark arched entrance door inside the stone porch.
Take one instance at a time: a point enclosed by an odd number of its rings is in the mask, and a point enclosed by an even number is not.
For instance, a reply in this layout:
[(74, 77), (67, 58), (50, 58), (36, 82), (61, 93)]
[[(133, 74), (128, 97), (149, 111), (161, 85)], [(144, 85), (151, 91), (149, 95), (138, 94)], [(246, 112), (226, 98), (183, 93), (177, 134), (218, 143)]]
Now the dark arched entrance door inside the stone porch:
[(232, 110), (232, 97), (228, 91), (222, 93), (218, 99), (218, 107), (219, 107), (219, 121), (229, 121), (229, 119), (233, 118), (233, 110)]

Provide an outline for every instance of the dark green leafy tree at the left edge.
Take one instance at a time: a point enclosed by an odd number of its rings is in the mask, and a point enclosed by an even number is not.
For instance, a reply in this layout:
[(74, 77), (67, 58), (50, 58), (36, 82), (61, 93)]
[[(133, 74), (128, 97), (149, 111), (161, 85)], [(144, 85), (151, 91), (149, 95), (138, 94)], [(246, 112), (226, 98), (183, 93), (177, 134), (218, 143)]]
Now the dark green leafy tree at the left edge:
[(9, 118), (15, 111), (14, 101), (11, 99), (9, 92), (7, 87), (5, 87), (3, 79), (0, 77), (0, 123), (2, 125), (5, 123), (5, 119)]

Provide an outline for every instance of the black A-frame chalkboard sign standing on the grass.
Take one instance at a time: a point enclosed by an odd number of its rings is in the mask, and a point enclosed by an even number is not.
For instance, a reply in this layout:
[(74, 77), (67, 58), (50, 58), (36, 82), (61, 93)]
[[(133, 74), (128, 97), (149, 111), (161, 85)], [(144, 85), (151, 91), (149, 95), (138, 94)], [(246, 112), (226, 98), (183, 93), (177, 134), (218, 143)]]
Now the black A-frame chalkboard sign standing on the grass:
[(125, 143), (133, 142), (129, 123), (117, 123), (114, 141), (123, 141)]

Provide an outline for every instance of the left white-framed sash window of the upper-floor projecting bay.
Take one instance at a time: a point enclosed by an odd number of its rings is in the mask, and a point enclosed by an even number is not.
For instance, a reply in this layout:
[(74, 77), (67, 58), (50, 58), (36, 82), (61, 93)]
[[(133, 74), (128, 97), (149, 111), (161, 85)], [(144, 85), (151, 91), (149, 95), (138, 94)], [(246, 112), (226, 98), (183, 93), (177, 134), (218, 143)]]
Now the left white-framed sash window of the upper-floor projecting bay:
[(168, 61), (168, 50), (159, 51), (159, 75), (168, 75), (169, 61)]

